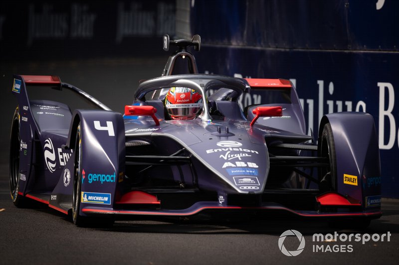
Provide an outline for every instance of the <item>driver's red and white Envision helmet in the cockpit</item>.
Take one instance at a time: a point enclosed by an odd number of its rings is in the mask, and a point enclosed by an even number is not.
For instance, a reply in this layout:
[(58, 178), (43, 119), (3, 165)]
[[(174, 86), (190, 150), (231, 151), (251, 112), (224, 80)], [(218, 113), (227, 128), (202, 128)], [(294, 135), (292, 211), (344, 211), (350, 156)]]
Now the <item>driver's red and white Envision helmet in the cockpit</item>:
[(191, 120), (202, 109), (202, 96), (191, 88), (174, 87), (169, 89), (165, 106), (174, 120)]

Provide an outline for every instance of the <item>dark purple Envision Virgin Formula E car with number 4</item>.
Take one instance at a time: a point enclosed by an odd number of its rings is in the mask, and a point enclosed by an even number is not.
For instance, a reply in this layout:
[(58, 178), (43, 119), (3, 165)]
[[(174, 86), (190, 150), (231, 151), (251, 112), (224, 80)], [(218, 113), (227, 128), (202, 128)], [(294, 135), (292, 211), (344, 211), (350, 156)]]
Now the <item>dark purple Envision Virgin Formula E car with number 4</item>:
[[(10, 136), (10, 193), (71, 214), (78, 226), (116, 217), (288, 211), (300, 216), (379, 218), (381, 176), (373, 117), (323, 116), (317, 137), (292, 83), (198, 73), (189, 46), (177, 46), (161, 77), (142, 82), (125, 113), (111, 111), (56, 76), (14, 75), (18, 106)], [(189, 74), (173, 75), (186, 57)], [(31, 87), (70, 90), (94, 105), (75, 109), (33, 100)], [(57, 92), (59, 92), (57, 91)], [(256, 104), (240, 106), (250, 95)], [(273, 211), (274, 212), (274, 211)]]

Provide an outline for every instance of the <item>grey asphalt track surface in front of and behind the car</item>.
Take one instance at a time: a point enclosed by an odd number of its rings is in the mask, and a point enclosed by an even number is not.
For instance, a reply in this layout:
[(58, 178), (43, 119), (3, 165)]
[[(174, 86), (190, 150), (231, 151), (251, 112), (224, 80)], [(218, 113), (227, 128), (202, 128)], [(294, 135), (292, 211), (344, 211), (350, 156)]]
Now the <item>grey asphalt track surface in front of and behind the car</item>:
[[(16, 208), (8, 187), (8, 137), (15, 99), (12, 73), (53, 74), (89, 92), (112, 109), (122, 111), (140, 79), (160, 74), (166, 58), (156, 60), (89, 60), (2, 62), (0, 110), (0, 264), (397, 264), (399, 260), (399, 200), (384, 199), (384, 215), (364, 231), (330, 228), (326, 222), (276, 216), (265, 219), (117, 221), (110, 229), (79, 228), (69, 216), (47, 205)], [(151, 63), (149, 63), (151, 62)], [(136, 85), (132, 85), (136, 84)], [(111, 89), (112, 88), (112, 89)], [(127, 96), (128, 95), (128, 96)], [(350, 225), (350, 224), (349, 224)], [(296, 257), (281, 253), (278, 241), (286, 230), (304, 235)], [(391, 234), (390, 242), (313, 242), (313, 234)], [(387, 236), (385, 237), (387, 239)], [(288, 251), (300, 246), (296, 237), (283, 242)], [(314, 252), (339, 246), (352, 252)], [(344, 246), (344, 247), (341, 247)], [(350, 247), (351, 246), (351, 247)]]

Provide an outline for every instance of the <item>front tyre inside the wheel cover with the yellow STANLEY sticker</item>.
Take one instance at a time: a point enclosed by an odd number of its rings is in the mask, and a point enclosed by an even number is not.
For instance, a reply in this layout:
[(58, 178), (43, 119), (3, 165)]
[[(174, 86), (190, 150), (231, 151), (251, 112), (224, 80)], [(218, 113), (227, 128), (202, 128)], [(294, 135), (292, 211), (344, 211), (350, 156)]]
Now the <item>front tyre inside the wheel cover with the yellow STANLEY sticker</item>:
[(319, 157), (325, 157), (329, 166), (319, 170), (319, 190), (321, 193), (337, 190), (337, 159), (335, 156), (335, 143), (333, 130), (330, 123), (323, 127), (318, 148)]

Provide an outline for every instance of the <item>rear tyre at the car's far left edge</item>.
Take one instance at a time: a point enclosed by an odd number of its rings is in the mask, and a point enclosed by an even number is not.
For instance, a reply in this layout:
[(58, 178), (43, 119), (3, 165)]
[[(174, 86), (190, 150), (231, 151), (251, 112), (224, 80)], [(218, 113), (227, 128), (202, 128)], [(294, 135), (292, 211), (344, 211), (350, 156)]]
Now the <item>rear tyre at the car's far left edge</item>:
[(25, 198), (19, 191), (19, 108), (16, 107), (11, 123), (10, 149), (9, 149), (9, 188), (12, 202), (16, 207), (25, 206)]

